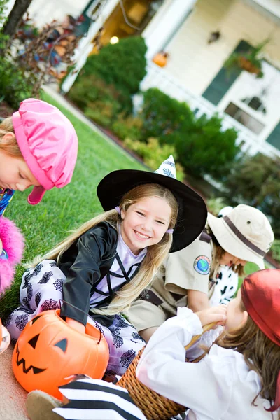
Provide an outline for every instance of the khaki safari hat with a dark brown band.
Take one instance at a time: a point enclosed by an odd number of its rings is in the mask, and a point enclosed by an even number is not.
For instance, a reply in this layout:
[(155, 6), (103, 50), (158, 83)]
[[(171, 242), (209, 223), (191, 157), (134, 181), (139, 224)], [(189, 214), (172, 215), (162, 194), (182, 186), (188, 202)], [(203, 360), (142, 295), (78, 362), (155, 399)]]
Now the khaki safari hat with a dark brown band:
[(208, 224), (218, 243), (240, 260), (265, 268), (263, 258), (274, 241), (272, 227), (262, 211), (239, 204), (228, 215), (217, 218), (208, 214)]

